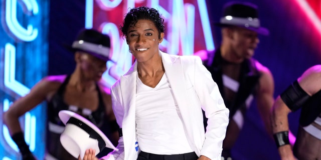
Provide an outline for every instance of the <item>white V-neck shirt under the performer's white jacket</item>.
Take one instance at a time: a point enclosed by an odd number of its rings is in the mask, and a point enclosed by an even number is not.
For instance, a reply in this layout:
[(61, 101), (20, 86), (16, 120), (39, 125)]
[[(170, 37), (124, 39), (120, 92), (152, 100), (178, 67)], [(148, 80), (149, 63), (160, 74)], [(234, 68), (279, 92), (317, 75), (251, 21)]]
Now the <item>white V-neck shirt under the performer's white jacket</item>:
[(166, 74), (152, 88), (137, 77), (136, 133), (142, 151), (154, 154), (192, 152)]

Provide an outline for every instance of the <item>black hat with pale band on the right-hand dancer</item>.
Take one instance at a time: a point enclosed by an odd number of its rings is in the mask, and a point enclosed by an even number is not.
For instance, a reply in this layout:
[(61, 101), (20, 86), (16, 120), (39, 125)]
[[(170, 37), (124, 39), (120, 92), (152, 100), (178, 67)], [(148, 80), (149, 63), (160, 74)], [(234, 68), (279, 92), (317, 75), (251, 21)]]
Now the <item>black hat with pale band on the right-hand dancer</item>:
[(269, 30), (260, 26), (257, 6), (250, 2), (231, 1), (224, 5), (223, 16), (218, 26), (240, 26), (268, 35)]

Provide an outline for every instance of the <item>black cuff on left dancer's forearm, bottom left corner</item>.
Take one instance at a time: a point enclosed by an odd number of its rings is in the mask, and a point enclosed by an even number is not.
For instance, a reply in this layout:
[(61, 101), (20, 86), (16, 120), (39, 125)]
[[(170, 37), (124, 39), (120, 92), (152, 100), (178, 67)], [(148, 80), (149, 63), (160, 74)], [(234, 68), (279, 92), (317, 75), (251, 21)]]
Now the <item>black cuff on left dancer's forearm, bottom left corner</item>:
[(11, 136), (11, 138), (16, 142), (18, 148), (20, 149), (23, 160), (36, 160), (25, 141), (23, 132), (15, 133)]

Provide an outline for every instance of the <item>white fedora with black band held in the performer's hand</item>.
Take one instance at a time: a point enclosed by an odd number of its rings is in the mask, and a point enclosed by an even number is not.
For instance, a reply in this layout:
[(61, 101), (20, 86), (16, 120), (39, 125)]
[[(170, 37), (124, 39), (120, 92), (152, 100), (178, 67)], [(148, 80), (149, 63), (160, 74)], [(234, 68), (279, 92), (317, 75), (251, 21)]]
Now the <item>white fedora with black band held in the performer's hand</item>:
[(61, 110), (59, 118), (66, 125), (60, 135), (60, 142), (75, 158), (80, 155), (82, 159), (89, 148), (95, 149), (96, 155), (105, 147), (118, 150), (97, 126), (83, 116)]

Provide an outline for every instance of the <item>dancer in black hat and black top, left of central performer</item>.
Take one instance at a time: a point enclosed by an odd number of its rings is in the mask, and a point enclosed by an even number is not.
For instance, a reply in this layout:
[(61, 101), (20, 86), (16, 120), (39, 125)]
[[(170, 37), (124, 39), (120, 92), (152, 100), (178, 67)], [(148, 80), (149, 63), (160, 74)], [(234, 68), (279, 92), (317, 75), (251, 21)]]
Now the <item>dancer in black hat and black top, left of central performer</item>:
[(94, 29), (82, 29), (69, 47), (74, 52), (76, 67), (70, 75), (51, 75), (39, 81), (26, 96), (15, 101), (4, 121), (23, 159), (35, 159), (24, 139), (18, 118), (44, 100), (48, 102), (48, 132), (46, 159), (76, 159), (60, 143), (64, 123), (60, 110), (74, 111), (100, 129), (114, 145), (118, 140), (118, 125), (111, 106), (109, 89), (100, 79), (109, 59), (110, 38)]

